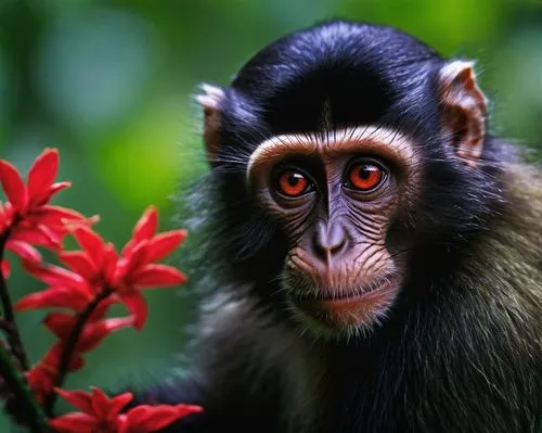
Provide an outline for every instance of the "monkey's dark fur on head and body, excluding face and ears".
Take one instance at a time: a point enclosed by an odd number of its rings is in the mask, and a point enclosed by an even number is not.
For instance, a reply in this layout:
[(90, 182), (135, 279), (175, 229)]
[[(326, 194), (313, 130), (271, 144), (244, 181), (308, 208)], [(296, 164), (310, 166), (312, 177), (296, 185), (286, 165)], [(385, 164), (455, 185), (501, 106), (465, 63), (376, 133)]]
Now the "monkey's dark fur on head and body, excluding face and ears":
[[(542, 431), (542, 177), (489, 133), (476, 169), (453, 157), (437, 88), (446, 62), (396, 29), (331, 22), (264, 48), (224, 89), (207, 179), (224, 281), (190, 379), (139, 397), (205, 412), (165, 431)], [(282, 306), (285, 240), (248, 196), (246, 163), (271, 136), (369, 124), (418, 143), (420, 206), (396, 222), (417, 245), (380, 327), (319, 340)]]

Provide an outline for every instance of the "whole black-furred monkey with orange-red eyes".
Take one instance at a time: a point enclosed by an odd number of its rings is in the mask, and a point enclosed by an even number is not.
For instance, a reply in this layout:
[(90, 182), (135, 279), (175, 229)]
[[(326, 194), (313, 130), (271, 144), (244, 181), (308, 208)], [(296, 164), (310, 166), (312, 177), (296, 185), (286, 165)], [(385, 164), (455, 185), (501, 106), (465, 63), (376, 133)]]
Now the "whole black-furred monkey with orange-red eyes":
[(542, 173), (474, 61), (331, 20), (196, 100), (220, 278), (164, 432), (542, 431)]

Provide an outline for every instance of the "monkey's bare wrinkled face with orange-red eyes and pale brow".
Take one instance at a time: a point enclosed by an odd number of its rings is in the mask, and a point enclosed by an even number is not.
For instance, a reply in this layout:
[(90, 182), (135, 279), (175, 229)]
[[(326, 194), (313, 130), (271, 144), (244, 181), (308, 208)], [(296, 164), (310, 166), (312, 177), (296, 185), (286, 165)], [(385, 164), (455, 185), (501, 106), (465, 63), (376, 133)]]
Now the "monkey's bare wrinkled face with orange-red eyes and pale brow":
[(405, 137), (372, 127), (278, 137), (253, 154), (248, 182), (288, 240), (281, 277), (296, 317), (350, 333), (386, 316), (405, 279), (397, 229), (415, 163)]

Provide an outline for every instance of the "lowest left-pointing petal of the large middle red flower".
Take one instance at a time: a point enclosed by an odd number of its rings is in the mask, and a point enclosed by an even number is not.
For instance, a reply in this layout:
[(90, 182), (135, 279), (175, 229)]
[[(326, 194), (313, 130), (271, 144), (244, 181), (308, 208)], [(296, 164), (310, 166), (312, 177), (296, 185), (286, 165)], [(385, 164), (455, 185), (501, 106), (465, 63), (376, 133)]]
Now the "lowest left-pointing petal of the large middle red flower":
[(80, 311), (89, 303), (90, 298), (77, 290), (66, 286), (51, 286), (41, 292), (30, 293), (18, 300), (13, 306), (15, 311), (36, 308), (72, 308)]

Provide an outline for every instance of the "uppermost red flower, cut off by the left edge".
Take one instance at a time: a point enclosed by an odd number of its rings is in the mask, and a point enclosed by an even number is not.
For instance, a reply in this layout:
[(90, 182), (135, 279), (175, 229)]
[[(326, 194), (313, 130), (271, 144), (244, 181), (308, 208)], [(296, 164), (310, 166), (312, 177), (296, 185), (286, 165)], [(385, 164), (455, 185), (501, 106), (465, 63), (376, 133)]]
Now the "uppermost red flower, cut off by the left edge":
[(68, 232), (66, 222), (90, 221), (78, 212), (49, 204), (54, 194), (70, 186), (53, 183), (59, 160), (55, 149), (46, 149), (28, 170), (26, 186), (17, 169), (0, 160), (0, 182), (8, 199), (3, 205), (0, 203), (0, 237), (9, 233), (5, 249), (26, 260), (41, 260), (33, 245), (61, 250)]

